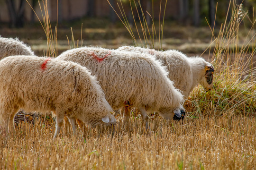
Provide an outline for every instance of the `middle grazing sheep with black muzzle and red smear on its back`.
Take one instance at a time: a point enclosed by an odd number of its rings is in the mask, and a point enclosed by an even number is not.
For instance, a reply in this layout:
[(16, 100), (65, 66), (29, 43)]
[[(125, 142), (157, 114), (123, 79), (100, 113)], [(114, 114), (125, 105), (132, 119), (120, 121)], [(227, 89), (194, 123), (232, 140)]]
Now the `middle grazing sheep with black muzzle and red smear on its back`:
[(148, 129), (147, 112), (157, 111), (165, 119), (181, 117), (183, 95), (167, 78), (161, 63), (146, 54), (81, 47), (64, 51), (56, 59), (71, 60), (91, 70), (114, 109), (127, 101), (138, 108)]

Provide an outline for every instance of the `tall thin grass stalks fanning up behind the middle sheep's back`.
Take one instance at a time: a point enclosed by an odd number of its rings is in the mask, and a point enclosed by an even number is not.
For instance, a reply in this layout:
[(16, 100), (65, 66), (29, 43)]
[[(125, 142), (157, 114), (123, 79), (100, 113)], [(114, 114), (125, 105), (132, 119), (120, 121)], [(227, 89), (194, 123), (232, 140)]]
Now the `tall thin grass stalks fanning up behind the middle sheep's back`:
[[(144, 11), (141, 5), (140, 0), (129, 0), (130, 11), (133, 17), (133, 24), (136, 28), (136, 32), (133, 32), (131, 23), (129, 23), (128, 17), (126, 15), (126, 11), (123, 5), (124, 0), (119, 0), (117, 3), (118, 11), (114, 8), (114, 6), (107, 0), (111, 6), (111, 8), (115, 11), (120, 21), (123, 23), (128, 33), (131, 35), (132, 41), (135, 46), (148, 46), (153, 47), (158, 50), (162, 50), (163, 44), (163, 34), (164, 34), (164, 23), (165, 23), (165, 10), (167, 0), (165, 2), (160, 1), (160, 10), (159, 10), (159, 27), (156, 29), (155, 20), (154, 20), (154, 0), (152, 0), (152, 14), (148, 11)], [(165, 8), (162, 11), (162, 3), (165, 3)], [(135, 10), (135, 12), (134, 12)], [(148, 23), (146, 19), (146, 15), (151, 18), (151, 22)], [(138, 17), (139, 22), (136, 21), (136, 16)], [(162, 19), (162, 20), (161, 20)]]

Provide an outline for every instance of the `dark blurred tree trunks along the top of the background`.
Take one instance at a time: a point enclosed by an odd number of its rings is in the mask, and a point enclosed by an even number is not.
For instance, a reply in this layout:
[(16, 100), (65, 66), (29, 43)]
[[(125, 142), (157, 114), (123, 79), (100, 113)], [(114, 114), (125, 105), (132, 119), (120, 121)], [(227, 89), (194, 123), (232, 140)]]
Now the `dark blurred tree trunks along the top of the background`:
[[(38, 0), (28, 0), (28, 2), (32, 8), (40, 14)], [(40, 0), (39, 2), (41, 3)], [(137, 15), (135, 8), (135, 6), (140, 3), (146, 21), (150, 23), (151, 17), (155, 17), (155, 20), (159, 19), (160, 8), (162, 11), (161, 15), (163, 15), (166, 1), (109, 0), (109, 2), (118, 12), (120, 12), (119, 8), (124, 8), (125, 14), (131, 22), (133, 22), (131, 8), (136, 19), (141, 15), (141, 11), (139, 11), (139, 15)], [(57, 14), (59, 23), (76, 20), (82, 17), (108, 17), (112, 23), (118, 21), (117, 15), (110, 7), (107, 0), (48, 0), (47, 3), (51, 21), (56, 21)], [(218, 25), (223, 22), (226, 17), (229, 0), (167, 0), (165, 19), (174, 21), (180, 25), (206, 26), (207, 22), (205, 18), (207, 18), (210, 26), (213, 26), (217, 3), (218, 12), (216, 24)], [(249, 17), (253, 18), (254, 14), (256, 14), (254, 10), (256, 0), (236, 0), (236, 3), (243, 3), (243, 9), (249, 11)], [(0, 23), (8, 23), (9, 27), (23, 27), (24, 24), (33, 23), (35, 21), (37, 21), (37, 19), (35, 18), (34, 11), (30, 8), (26, 0), (0, 0)]]

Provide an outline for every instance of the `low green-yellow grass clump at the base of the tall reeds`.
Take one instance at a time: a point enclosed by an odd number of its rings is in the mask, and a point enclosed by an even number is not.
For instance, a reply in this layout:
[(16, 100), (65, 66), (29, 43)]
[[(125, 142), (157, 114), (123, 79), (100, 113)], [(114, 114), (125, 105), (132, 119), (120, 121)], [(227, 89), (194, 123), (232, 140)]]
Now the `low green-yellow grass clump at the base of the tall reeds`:
[(230, 83), (216, 78), (214, 90), (205, 92), (196, 87), (185, 108), (190, 116), (223, 114), (256, 115), (256, 85), (252, 82)]

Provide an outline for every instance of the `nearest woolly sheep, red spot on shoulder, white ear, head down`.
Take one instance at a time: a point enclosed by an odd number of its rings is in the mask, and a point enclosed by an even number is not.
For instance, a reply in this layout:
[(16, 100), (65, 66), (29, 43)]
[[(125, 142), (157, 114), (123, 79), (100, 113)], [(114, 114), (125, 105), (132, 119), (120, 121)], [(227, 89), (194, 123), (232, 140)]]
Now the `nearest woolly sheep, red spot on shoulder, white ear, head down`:
[(4, 132), (14, 129), (13, 118), (19, 109), (53, 111), (54, 137), (65, 115), (74, 132), (75, 118), (91, 127), (116, 123), (96, 77), (77, 63), (59, 59), (23, 55), (0, 60), (0, 125)]

